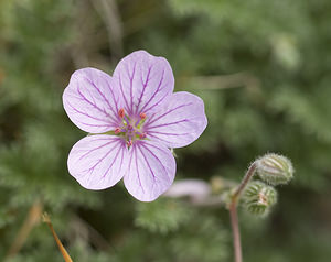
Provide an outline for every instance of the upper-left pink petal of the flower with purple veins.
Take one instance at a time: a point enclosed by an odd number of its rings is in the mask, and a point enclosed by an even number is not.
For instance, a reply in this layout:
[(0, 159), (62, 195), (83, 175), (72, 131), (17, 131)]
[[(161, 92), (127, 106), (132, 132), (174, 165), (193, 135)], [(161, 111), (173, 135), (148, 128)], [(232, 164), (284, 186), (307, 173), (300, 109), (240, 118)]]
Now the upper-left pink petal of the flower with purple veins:
[(119, 94), (114, 80), (95, 68), (76, 70), (63, 92), (70, 119), (82, 130), (103, 133), (118, 127)]

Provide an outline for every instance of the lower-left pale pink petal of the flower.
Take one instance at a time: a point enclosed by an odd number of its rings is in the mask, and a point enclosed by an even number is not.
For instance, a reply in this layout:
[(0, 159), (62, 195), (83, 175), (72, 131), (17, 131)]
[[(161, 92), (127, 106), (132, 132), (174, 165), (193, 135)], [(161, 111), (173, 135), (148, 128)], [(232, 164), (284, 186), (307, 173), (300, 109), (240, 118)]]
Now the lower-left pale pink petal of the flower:
[(71, 175), (87, 189), (114, 186), (126, 172), (128, 150), (115, 135), (96, 134), (79, 140), (70, 152)]

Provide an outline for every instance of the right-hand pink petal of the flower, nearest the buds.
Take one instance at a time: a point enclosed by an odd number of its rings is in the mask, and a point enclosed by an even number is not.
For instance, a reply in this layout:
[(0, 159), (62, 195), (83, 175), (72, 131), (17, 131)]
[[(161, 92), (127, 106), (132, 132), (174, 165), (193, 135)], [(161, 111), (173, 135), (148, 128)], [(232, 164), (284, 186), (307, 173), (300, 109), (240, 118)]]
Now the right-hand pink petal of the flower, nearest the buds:
[(181, 148), (196, 140), (206, 128), (207, 119), (201, 98), (190, 92), (174, 92), (163, 110), (145, 123), (147, 137), (169, 148)]

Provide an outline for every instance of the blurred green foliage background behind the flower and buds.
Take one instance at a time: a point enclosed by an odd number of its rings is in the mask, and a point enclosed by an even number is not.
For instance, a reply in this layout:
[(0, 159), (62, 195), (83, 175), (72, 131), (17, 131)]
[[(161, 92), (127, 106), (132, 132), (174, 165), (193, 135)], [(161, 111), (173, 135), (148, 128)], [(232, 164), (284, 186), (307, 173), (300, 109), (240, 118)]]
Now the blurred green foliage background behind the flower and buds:
[(209, 127), (175, 151), (177, 179), (239, 182), (266, 152), (293, 162), (266, 219), (239, 210), (245, 261), (330, 261), (330, 0), (1, 0), (0, 261), (63, 261), (42, 211), (75, 262), (233, 260), (222, 206), (141, 204), (67, 173), (85, 135), (62, 107), (71, 74), (111, 75), (141, 48), (205, 102)]

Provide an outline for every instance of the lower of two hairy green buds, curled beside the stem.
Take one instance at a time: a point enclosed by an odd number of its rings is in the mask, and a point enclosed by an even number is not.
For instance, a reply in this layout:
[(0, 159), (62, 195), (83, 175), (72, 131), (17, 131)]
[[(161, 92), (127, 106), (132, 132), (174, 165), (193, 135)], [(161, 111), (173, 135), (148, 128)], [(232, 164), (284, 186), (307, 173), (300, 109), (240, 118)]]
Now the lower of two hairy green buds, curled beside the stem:
[(265, 216), (277, 201), (277, 192), (263, 182), (252, 182), (243, 194), (244, 205), (254, 215)]

